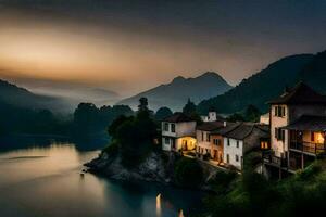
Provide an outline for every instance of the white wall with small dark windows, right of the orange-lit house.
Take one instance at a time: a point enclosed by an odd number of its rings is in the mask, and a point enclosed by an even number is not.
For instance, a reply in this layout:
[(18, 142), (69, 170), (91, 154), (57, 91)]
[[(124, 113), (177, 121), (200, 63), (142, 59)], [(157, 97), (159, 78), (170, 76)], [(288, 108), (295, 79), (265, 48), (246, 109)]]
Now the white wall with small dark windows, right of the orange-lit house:
[[(228, 141), (229, 140), (229, 145)], [(237, 141), (239, 141), (239, 148), (237, 148)], [(231, 138), (224, 138), (224, 156), (223, 163), (233, 165), (238, 169), (242, 169), (242, 149), (243, 149), (243, 141), (236, 140)], [(227, 163), (227, 155), (229, 155), (229, 163)], [(238, 155), (238, 162), (236, 161), (236, 155)]]

